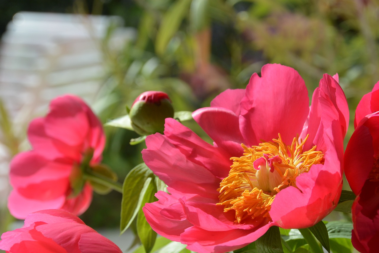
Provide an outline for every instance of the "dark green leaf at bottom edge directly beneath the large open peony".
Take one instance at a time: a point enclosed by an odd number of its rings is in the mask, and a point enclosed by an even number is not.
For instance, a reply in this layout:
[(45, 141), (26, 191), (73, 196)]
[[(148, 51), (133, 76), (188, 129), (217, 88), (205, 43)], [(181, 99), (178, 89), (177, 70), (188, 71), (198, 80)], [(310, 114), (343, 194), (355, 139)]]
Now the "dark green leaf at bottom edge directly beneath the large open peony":
[(267, 232), (255, 241), (258, 253), (283, 253), (280, 230), (272, 226)]

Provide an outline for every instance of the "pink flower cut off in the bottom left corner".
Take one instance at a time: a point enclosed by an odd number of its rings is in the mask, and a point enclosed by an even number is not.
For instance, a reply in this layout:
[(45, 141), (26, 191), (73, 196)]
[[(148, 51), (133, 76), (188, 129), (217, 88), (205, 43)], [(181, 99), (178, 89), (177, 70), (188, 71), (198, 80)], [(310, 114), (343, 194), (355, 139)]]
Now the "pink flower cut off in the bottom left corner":
[(7, 253), (122, 253), (113, 242), (63, 210), (30, 213), (24, 224), (2, 235), (1, 250)]

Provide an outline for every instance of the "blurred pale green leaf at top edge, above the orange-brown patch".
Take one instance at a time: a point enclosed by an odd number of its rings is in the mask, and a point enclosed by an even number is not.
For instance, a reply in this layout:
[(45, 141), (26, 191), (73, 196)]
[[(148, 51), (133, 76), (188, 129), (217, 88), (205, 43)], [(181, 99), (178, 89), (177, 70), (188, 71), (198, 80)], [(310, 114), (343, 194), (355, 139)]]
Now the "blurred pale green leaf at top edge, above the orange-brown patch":
[(209, 26), (208, 2), (209, 0), (192, 0), (190, 8), (191, 26), (195, 32)]

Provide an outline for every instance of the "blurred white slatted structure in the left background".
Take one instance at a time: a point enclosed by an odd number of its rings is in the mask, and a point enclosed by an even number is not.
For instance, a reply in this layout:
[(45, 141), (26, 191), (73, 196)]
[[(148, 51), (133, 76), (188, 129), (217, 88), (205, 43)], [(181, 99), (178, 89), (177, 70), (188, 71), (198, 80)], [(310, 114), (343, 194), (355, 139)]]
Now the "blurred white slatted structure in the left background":
[[(44, 115), (49, 101), (58, 95), (71, 93), (89, 104), (94, 102), (104, 82), (101, 46), (108, 28), (118, 27), (109, 40), (112, 49), (134, 37), (134, 30), (122, 28), (122, 24), (122, 19), (114, 16), (14, 15), (0, 44), (0, 99), (17, 139), (27, 143), (28, 122)], [(7, 141), (9, 136), (0, 128), (0, 208), (9, 193), (12, 152)]]

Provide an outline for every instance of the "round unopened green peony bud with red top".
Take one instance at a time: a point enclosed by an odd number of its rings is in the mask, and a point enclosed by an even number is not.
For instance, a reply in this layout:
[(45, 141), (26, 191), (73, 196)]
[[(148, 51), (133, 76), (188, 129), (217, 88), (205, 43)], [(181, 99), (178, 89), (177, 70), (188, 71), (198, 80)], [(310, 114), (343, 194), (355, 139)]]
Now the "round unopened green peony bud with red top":
[(163, 133), (164, 119), (174, 117), (174, 108), (166, 93), (148, 91), (136, 98), (129, 116), (136, 133), (140, 135)]

